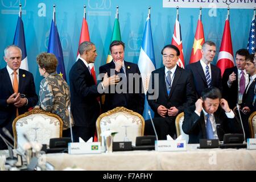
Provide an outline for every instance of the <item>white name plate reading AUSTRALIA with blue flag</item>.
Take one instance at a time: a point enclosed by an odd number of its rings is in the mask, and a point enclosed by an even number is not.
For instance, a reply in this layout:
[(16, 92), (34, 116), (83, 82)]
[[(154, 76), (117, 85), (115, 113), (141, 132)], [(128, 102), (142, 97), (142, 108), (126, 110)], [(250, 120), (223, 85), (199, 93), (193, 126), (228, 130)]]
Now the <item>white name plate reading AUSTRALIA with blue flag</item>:
[(186, 140), (155, 140), (156, 151), (186, 151)]

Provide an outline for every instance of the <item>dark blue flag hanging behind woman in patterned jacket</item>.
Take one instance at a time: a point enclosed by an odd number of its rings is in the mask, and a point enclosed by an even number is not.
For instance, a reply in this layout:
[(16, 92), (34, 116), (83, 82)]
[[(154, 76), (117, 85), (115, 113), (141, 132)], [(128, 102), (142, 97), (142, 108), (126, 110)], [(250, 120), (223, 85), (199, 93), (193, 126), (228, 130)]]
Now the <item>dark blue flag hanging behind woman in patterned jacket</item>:
[(60, 76), (62, 76), (64, 78), (64, 80), (66, 80), (63, 51), (62, 51), (61, 43), (60, 43), (60, 36), (59, 36), (58, 30), (57, 30), (57, 26), (55, 24), (55, 18), (52, 19), (51, 32), (49, 35), (49, 43), (48, 43), (47, 52), (53, 53), (56, 56), (56, 58), (58, 60), (57, 73)]

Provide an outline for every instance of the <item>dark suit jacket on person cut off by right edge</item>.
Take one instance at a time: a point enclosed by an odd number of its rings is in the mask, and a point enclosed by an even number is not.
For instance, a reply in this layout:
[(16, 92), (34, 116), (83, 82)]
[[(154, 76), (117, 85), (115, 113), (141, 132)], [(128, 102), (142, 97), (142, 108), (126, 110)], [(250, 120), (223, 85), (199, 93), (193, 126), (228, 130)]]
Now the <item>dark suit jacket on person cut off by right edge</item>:
[[(248, 87), (248, 85), (245, 88), (245, 92), (243, 93), (243, 101), (241, 106), (245, 107), (248, 106), (250, 108), (250, 113), (247, 115), (250, 115), (251, 113), (253, 113), (253, 111), (255, 111), (255, 104), (253, 105), (253, 100), (254, 100), (254, 95), (255, 95), (255, 85), (256, 85), (256, 78), (254, 78), (253, 82), (251, 83), (251, 85), (249, 86), (247, 92), (246, 89)], [(255, 101), (256, 102), (256, 101)]]

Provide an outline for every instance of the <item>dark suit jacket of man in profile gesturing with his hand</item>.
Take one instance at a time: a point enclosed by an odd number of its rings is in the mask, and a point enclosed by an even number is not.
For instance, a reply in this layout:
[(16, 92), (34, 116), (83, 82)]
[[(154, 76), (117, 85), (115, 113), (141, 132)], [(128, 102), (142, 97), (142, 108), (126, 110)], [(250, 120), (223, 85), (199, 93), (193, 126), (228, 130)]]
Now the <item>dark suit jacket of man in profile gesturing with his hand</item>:
[(95, 127), (100, 114), (97, 85), (81, 59), (73, 64), (69, 72), (71, 111), (75, 126)]

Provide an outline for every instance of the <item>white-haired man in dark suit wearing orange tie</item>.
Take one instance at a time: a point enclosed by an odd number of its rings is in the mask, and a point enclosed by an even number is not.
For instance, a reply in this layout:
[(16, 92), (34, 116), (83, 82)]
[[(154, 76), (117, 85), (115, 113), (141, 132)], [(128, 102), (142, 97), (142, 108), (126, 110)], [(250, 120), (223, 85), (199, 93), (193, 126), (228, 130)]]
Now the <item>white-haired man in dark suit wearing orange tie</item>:
[[(32, 73), (20, 69), (22, 51), (17, 46), (5, 48), (4, 57), (7, 66), (0, 69), (0, 133), (5, 127), (13, 134), (13, 120), (16, 116), (24, 114), (28, 108), (38, 102), (35, 91), (35, 82)], [(13, 141), (10, 140), (11, 143)], [(7, 148), (0, 138), (0, 150)]]

